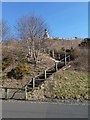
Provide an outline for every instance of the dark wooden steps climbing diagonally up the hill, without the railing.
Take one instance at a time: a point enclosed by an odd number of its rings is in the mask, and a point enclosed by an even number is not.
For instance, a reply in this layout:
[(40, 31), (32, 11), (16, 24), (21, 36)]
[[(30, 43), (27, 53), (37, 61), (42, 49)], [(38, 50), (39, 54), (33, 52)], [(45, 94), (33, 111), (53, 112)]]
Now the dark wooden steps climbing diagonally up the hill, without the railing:
[[(70, 56), (70, 55), (69, 55)], [(68, 58), (68, 56), (66, 56)], [(55, 60), (54, 60), (55, 61)], [(67, 59), (67, 62), (68, 59)], [(64, 59), (60, 60), (57, 62), (57, 66), (53, 65), (51, 68), (49, 68), (48, 70), (46, 70), (46, 76), (45, 73), (43, 72), (42, 74), (40, 74), (39, 76), (34, 78), (34, 83), (33, 83), (33, 79), (27, 84), (27, 88), (28, 90), (32, 90), (33, 88), (37, 88), (39, 86), (42, 85), (42, 83), (48, 78), (50, 77), (53, 73), (57, 72), (57, 70), (61, 69), (62, 67), (64, 67), (66, 64), (64, 62)], [(46, 78), (45, 78), (46, 77)], [(34, 84), (34, 87), (33, 87)]]

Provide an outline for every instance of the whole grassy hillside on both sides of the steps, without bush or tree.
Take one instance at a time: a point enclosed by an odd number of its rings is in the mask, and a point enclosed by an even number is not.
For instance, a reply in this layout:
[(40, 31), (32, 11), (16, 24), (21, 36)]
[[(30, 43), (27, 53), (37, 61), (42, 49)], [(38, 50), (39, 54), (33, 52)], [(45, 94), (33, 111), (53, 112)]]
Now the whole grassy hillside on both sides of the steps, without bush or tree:
[[(44, 41), (42, 47), (46, 49), (60, 51), (62, 47), (73, 47), (77, 52), (77, 57), (70, 63), (71, 68), (65, 71), (58, 71), (48, 78), (38, 90), (29, 92), (30, 98), (88, 99), (88, 49), (79, 48), (78, 44), (80, 42), (81, 40)], [(3, 86), (20, 88), (32, 77), (54, 64), (50, 56), (44, 53), (40, 53), (39, 62), (36, 67), (31, 63), (27, 63), (26, 55), (28, 49), (26, 46), (25, 41), (9, 41), (2, 45)], [(20, 80), (8, 78), (7, 73), (21, 63), (29, 67), (29, 71), (24, 78)]]

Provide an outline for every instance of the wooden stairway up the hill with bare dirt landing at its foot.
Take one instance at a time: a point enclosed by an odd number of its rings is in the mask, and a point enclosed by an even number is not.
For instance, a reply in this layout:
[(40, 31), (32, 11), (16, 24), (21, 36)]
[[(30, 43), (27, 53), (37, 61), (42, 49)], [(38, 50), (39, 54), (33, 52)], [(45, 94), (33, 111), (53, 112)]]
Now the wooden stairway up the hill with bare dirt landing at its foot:
[[(9, 98), (12, 98), (12, 99), (22, 98), (22, 99), (24, 99), (25, 98), (25, 91), (27, 91), (27, 92), (32, 91), (33, 89), (36, 89), (36, 88), (40, 87), (42, 85), (42, 83), (47, 78), (49, 78), (52, 74), (54, 74), (59, 69), (64, 67), (66, 65), (66, 61), (67, 61), (67, 63), (70, 61), (70, 55), (66, 56), (65, 58), (61, 59), (60, 61), (57, 61), (55, 59), (54, 59), (54, 61), (55, 61), (55, 64), (52, 67), (45, 70), (43, 73), (36, 76), (35, 78), (32, 78), (32, 80), (30, 80), (25, 86), (23, 86), (21, 88), (21, 89), (24, 89), (23, 91), (17, 90), (15, 92), (13, 92), (13, 94), (10, 94)], [(26, 90), (25, 90), (25, 87), (26, 87)]]

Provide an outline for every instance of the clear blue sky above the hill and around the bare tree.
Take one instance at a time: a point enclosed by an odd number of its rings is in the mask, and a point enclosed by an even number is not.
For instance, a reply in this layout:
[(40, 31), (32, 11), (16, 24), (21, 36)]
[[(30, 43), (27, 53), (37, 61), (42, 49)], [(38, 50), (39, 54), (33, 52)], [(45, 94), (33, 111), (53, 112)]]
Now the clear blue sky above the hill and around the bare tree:
[[(23, 15), (41, 16), (51, 37), (88, 37), (87, 2), (3, 2), (2, 18), (11, 28)], [(14, 27), (13, 27), (14, 26)], [(15, 33), (14, 29), (12, 32)]]

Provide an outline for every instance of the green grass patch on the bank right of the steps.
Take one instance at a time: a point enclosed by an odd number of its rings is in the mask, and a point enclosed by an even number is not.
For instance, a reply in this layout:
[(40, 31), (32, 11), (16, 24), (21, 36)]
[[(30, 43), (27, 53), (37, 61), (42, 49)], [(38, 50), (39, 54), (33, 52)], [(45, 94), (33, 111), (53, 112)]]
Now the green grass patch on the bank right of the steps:
[[(48, 80), (50, 81), (50, 80)], [(81, 71), (58, 71), (45, 89), (45, 95), (61, 99), (88, 99), (88, 73)], [(50, 89), (51, 87), (51, 89)]]

